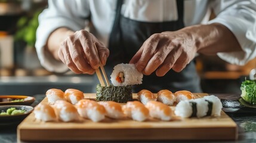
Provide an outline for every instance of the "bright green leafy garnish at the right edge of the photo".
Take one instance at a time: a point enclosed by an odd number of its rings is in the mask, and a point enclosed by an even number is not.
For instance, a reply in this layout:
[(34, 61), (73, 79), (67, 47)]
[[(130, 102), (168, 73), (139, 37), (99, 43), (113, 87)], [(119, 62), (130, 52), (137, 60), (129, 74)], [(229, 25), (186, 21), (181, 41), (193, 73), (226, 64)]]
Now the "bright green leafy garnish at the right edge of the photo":
[(256, 80), (245, 80), (240, 87), (243, 100), (249, 104), (256, 104)]

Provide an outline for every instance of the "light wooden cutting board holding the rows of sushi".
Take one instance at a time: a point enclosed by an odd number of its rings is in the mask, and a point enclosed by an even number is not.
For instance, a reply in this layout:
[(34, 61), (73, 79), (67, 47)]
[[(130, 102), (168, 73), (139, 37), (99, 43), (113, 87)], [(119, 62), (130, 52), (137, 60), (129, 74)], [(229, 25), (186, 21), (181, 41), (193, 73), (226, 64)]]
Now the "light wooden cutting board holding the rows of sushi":
[[(201, 98), (207, 94), (194, 94)], [(95, 94), (85, 94), (95, 99)], [(136, 95), (134, 94), (134, 99)], [(47, 98), (42, 102), (48, 103)], [(172, 107), (173, 109), (175, 107)], [(18, 125), (18, 141), (159, 141), (159, 140), (219, 140), (237, 138), (236, 123), (221, 111), (220, 117), (181, 119), (169, 122), (149, 119), (137, 122), (131, 119), (104, 119), (94, 123), (81, 119), (79, 122), (41, 122), (31, 113)]]

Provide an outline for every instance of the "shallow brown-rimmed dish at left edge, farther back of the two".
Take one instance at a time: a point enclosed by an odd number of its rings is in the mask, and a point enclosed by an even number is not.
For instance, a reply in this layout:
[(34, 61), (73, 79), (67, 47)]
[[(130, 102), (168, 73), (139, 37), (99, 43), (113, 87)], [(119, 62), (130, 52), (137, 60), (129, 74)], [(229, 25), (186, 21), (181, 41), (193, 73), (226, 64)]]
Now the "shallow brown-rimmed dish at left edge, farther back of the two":
[(24, 95), (0, 95), (0, 105), (31, 105), (34, 97)]

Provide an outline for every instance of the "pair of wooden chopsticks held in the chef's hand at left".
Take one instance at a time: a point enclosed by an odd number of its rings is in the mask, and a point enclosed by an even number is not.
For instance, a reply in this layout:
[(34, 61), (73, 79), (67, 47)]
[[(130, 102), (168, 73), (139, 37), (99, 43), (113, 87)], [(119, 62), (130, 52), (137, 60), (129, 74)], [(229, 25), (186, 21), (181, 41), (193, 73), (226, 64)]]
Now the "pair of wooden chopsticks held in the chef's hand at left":
[[(94, 47), (95, 47), (95, 49), (96, 49), (96, 52), (98, 53), (98, 50), (97, 50), (97, 47), (96, 47), (96, 45), (95, 45), (95, 43), (94, 43)], [(100, 57), (98, 57), (98, 59), (100, 59)], [(102, 74), (103, 74), (103, 76), (104, 76), (104, 79), (103, 79), (103, 77), (102, 77), (102, 75), (101, 75), (101, 72), (100, 72), (100, 69), (101, 69), (101, 71), (102, 71)], [(104, 67), (103, 67), (103, 65), (102, 65), (102, 63), (101, 63), (101, 61), (100, 61), (100, 68), (98, 68), (97, 70), (95, 70), (95, 72), (96, 72), (96, 74), (97, 74), (97, 76), (98, 76), (98, 80), (100, 80), (100, 85), (101, 86), (109, 86), (110, 84), (109, 84), (109, 79), (107, 79), (107, 74), (106, 74), (106, 72), (105, 72), (105, 69), (104, 69)], [(106, 82), (106, 84), (105, 84), (105, 82)]]

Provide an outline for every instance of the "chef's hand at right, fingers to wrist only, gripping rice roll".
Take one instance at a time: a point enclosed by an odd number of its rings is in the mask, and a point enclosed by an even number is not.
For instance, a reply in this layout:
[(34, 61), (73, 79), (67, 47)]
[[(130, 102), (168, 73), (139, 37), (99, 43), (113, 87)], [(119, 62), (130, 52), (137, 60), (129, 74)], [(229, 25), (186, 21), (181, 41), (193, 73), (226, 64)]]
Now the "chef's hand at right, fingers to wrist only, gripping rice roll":
[(164, 76), (170, 69), (180, 72), (195, 57), (196, 43), (188, 32), (156, 33), (147, 39), (129, 63), (149, 75)]

